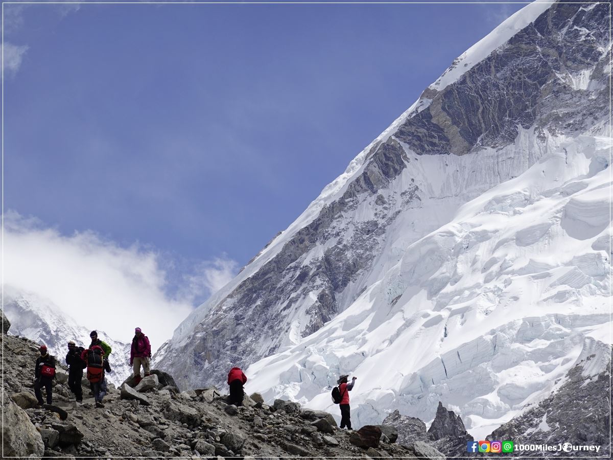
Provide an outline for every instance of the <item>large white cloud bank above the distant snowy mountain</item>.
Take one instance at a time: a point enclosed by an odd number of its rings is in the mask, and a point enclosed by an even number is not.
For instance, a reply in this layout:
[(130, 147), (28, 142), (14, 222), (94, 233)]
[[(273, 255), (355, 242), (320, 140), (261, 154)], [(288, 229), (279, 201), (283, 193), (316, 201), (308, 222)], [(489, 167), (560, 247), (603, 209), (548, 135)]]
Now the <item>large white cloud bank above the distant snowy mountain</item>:
[(161, 256), (137, 244), (123, 248), (94, 232), (63, 236), (15, 212), (4, 215), (3, 242), (6, 285), (50, 300), (115, 340), (131, 339), (138, 326), (158, 346), (191, 312), (189, 301), (221, 287), (237, 267), (227, 258), (202, 263), (189, 286), (170, 296)]

